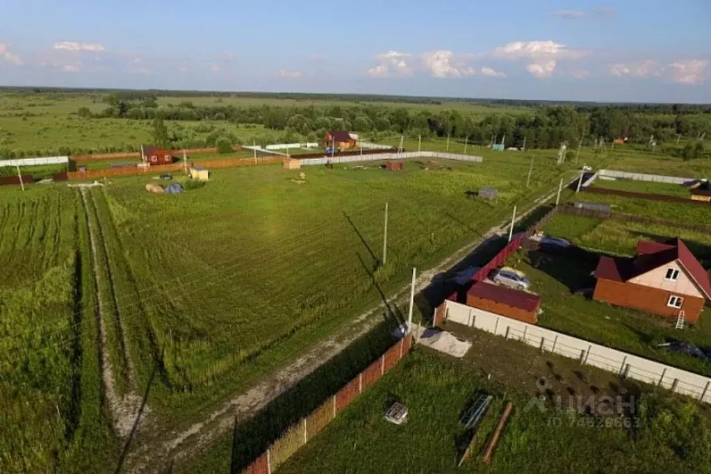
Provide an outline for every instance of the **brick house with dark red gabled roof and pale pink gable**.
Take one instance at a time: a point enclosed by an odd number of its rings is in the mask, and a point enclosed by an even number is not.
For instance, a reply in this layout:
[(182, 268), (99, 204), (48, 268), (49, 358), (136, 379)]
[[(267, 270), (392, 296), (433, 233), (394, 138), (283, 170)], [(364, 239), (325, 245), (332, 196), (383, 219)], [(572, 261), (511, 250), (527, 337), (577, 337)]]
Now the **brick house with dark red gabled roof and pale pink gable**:
[(709, 275), (681, 239), (640, 240), (631, 259), (601, 257), (595, 278), (597, 301), (674, 318), (683, 311), (689, 323), (711, 299)]

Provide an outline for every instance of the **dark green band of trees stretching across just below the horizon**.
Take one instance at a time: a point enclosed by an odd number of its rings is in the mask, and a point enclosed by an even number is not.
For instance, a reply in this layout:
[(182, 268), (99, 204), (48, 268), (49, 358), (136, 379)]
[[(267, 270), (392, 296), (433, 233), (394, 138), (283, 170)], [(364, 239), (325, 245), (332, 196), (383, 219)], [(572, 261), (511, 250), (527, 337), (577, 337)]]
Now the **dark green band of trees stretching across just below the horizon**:
[(285, 130), (320, 138), (328, 129), (361, 133), (405, 134), (424, 137), (451, 136), (471, 144), (500, 143), (528, 148), (557, 148), (562, 141), (575, 146), (582, 139), (591, 141), (623, 138), (646, 144), (651, 139), (661, 144), (679, 136), (697, 138), (711, 129), (711, 113), (702, 106), (542, 106), (526, 114), (490, 114), (479, 118), (458, 109), (411, 109), (397, 105), (338, 104), (314, 106), (235, 106), (195, 105), (189, 100), (159, 107), (156, 95), (130, 91), (109, 95), (108, 107), (81, 116), (166, 120), (226, 120), (235, 124), (262, 124), (268, 129)]

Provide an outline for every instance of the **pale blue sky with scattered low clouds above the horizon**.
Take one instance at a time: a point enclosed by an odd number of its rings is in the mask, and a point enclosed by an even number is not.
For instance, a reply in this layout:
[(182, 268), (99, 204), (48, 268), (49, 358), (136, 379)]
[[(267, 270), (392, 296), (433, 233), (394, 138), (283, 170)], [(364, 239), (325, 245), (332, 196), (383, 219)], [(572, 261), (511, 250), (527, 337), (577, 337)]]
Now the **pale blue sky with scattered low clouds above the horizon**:
[(0, 85), (711, 103), (709, 0), (0, 0)]

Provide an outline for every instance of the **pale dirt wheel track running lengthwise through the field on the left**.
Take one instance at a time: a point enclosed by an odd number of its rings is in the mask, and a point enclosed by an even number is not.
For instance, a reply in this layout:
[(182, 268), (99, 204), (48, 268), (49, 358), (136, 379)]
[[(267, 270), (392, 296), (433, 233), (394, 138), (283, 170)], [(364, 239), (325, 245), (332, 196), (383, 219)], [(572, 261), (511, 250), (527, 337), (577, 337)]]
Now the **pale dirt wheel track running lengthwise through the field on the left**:
[[(97, 230), (94, 228), (91, 216), (91, 208), (87, 202), (85, 188), (81, 188), (80, 193), (82, 195), (82, 204), (84, 210), (87, 214), (88, 232), (89, 232), (89, 244), (90, 244), (90, 256), (94, 273), (94, 289), (97, 296), (97, 317), (99, 319), (99, 324), (97, 329), (99, 332), (98, 344), (99, 344), (99, 354), (100, 354), (100, 370), (102, 374), (102, 380), (104, 384), (105, 399), (107, 401), (109, 412), (111, 414), (114, 430), (119, 433), (122, 438), (127, 438), (134, 428), (134, 424), (137, 421), (137, 417), (143, 413), (143, 417), (146, 416), (148, 412), (148, 407), (145, 406), (141, 409), (142, 397), (138, 394), (128, 392), (124, 397), (120, 397), (116, 389), (116, 379), (114, 378), (114, 369), (111, 364), (109, 353), (107, 350), (107, 328), (105, 319), (107, 315), (105, 314), (105, 307), (103, 301), (103, 295), (101, 292), (100, 284), (100, 270), (99, 261), (97, 258)], [(93, 197), (92, 197), (93, 199)], [(96, 212), (94, 210), (94, 212)], [(98, 216), (97, 222), (98, 222)]]

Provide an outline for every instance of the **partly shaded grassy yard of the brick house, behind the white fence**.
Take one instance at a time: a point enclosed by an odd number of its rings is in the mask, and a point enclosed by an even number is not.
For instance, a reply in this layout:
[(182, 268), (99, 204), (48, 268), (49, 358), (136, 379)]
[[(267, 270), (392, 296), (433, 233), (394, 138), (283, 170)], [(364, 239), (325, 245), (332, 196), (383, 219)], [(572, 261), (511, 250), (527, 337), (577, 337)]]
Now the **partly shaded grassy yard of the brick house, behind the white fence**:
[(594, 287), (592, 271), (597, 266), (594, 261), (529, 252), (518, 254), (514, 265), (525, 272), (542, 296), (539, 325), (692, 372), (711, 371), (711, 360), (658, 347), (661, 343), (683, 340), (710, 348), (710, 315), (702, 313), (697, 324), (677, 330), (673, 319), (594, 301), (584, 291)]

